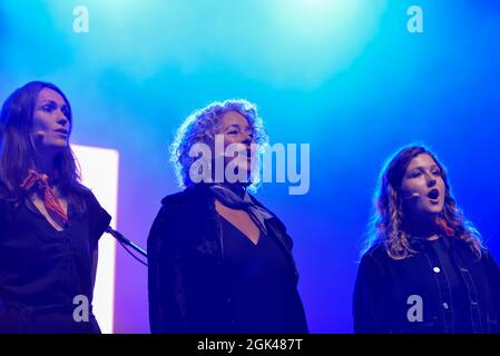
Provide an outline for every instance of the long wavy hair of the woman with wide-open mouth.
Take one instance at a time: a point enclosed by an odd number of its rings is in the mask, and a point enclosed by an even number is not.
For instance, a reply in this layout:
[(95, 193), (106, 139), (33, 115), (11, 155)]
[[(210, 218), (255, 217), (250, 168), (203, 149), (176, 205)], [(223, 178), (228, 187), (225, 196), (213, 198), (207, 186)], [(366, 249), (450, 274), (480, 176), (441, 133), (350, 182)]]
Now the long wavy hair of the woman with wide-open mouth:
[(444, 181), (445, 196), (441, 218), (454, 231), (453, 238), (459, 238), (471, 247), (478, 258), (481, 258), (481, 236), (473, 225), (468, 221), (457, 206), (452, 196), (450, 182), (443, 165), (438, 157), (423, 145), (410, 145), (390, 157), (381, 171), (374, 194), (374, 214), (369, 224), (369, 231), (363, 253), (375, 245), (382, 245), (393, 259), (404, 259), (415, 254), (410, 246), (409, 234), (405, 230), (403, 197), (401, 182), (410, 161), (422, 154), (427, 154), (435, 161)]

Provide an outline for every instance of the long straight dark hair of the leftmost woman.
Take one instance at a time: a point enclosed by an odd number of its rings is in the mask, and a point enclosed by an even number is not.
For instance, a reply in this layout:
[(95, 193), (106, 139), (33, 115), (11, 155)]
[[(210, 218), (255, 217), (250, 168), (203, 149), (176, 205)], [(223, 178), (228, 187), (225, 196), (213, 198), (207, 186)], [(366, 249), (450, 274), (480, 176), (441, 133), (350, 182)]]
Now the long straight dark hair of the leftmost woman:
[[(42, 157), (37, 150), (32, 134), (33, 112), (38, 95), (45, 88), (58, 92), (68, 107), (69, 134), (72, 129), (71, 106), (65, 93), (55, 85), (31, 81), (13, 91), (3, 102), (0, 113), (0, 182), (11, 200), (20, 200), (24, 191), (21, 182), (29, 169), (40, 167)], [(68, 145), (55, 158), (57, 187), (62, 196), (77, 208), (84, 201), (75, 194), (81, 192), (80, 171), (75, 155)], [(79, 210), (80, 210), (79, 209)]]

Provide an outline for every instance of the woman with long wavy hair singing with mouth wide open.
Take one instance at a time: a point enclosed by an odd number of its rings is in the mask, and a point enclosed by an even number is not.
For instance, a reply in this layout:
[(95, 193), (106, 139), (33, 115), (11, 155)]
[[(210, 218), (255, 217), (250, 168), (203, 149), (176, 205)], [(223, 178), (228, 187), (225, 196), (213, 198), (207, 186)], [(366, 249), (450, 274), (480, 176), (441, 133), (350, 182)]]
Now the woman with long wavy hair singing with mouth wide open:
[(500, 268), (427, 147), (385, 164), (354, 289), (356, 333), (499, 333)]

